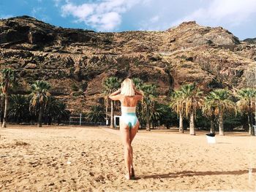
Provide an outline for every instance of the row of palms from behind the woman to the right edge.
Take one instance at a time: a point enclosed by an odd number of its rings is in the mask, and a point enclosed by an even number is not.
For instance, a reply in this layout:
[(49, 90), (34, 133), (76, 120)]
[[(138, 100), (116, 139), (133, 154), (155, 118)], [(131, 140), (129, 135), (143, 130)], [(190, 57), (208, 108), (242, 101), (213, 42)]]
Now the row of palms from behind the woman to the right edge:
[[(184, 118), (189, 121), (189, 134), (195, 135), (195, 120), (200, 116), (201, 121), (210, 122), (210, 131), (215, 132), (215, 124), (218, 125), (219, 135), (224, 135), (224, 118), (234, 116), (238, 122), (234, 125), (244, 124), (249, 134), (255, 135), (253, 128), (253, 113), (255, 112), (255, 88), (241, 88), (229, 91), (217, 88), (209, 93), (201, 91), (195, 83), (182, 85), (170, 95), (170, 104), (160, 104), (156, 101), (157, 86), (144, 83), (139, 78), (132, 79), (135, 87), (143, 92), (143, 101), (137, 106), (140, 124), (146, 125), (150, 131), (151, 126), (164, 125), (170, 128), (170, 124), (176, 124), (178, 116), (179, 131), (184, 133)], [(121, 80), (117, 77), (109, 77), (103, 82), (105, 94), (105, 115), (108, 118), (108, 105), (110, 102), (110, 127), (113, 127), (113, 115), (115, 101), (110, 101), (108, 95), (120, 88)], [(230, 118), (231, 121), (232, 118)], [(240, 122), (239, 122), (240, 121)], [(243, 122), (241, 122), (243, 121)], [(197, 123), (197, 124), (200, 124)]]

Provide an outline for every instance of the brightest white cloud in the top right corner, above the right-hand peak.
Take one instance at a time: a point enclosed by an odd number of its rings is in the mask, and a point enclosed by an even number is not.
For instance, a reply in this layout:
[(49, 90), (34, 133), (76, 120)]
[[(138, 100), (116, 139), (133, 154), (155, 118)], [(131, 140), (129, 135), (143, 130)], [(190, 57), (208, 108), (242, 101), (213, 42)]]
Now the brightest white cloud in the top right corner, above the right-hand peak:
[(255, 13), (255, 0), (214, 0), (208, 7), (195, 10), (173, 22), (173, 25), (176, 26), (187, 20), (196, 20), (203, 24), (238, 26), (249, 20), (250, 16)]

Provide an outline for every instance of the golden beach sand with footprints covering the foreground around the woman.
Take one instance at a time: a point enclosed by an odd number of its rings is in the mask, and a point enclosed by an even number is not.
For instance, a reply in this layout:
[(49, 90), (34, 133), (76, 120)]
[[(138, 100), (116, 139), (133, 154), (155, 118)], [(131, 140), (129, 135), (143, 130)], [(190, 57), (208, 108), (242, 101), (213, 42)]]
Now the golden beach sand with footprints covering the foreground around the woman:
[(9, 126), (0, 134), (0, 191), (256, 191), (256, 137), (246, 133), (208, 144), (205, 132), (138, 131), (135, 180), (124, 178), (118, 130)]

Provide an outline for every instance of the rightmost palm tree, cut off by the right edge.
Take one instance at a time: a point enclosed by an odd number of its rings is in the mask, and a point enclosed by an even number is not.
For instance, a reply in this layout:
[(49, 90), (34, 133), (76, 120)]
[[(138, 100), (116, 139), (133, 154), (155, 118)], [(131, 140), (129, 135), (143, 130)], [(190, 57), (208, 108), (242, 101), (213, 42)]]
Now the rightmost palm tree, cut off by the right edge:
[(239, 99), (236, 102), (236, 106), (238, 107), (238, 110), (247, 115), (249, 134), (254, 136), (255, 130), (252, 127), (252, 114), (255, 109), (253, 105), (255, 105), (256, 89), (242, 88), (237, 91), (236, 96), (238, 96)]

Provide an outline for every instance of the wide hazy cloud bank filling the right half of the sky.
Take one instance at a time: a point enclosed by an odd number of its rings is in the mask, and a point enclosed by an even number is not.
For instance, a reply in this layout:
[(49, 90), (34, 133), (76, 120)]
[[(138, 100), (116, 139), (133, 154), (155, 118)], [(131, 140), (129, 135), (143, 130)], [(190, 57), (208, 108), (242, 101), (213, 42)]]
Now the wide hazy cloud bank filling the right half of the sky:
[[(190, 4), (189, 9), (184, 9), (184, 4)], [(195, 4), (190, 0), (176, 1), (176, 4), (157, 0), (146, 15), (148, 18), (138, 19), (139, 30), (163, 31), (189, 20), (196, 20), (203, 26), (239, 28), (244, 23), (255, 23), (256, 0), (197, 0)]]

